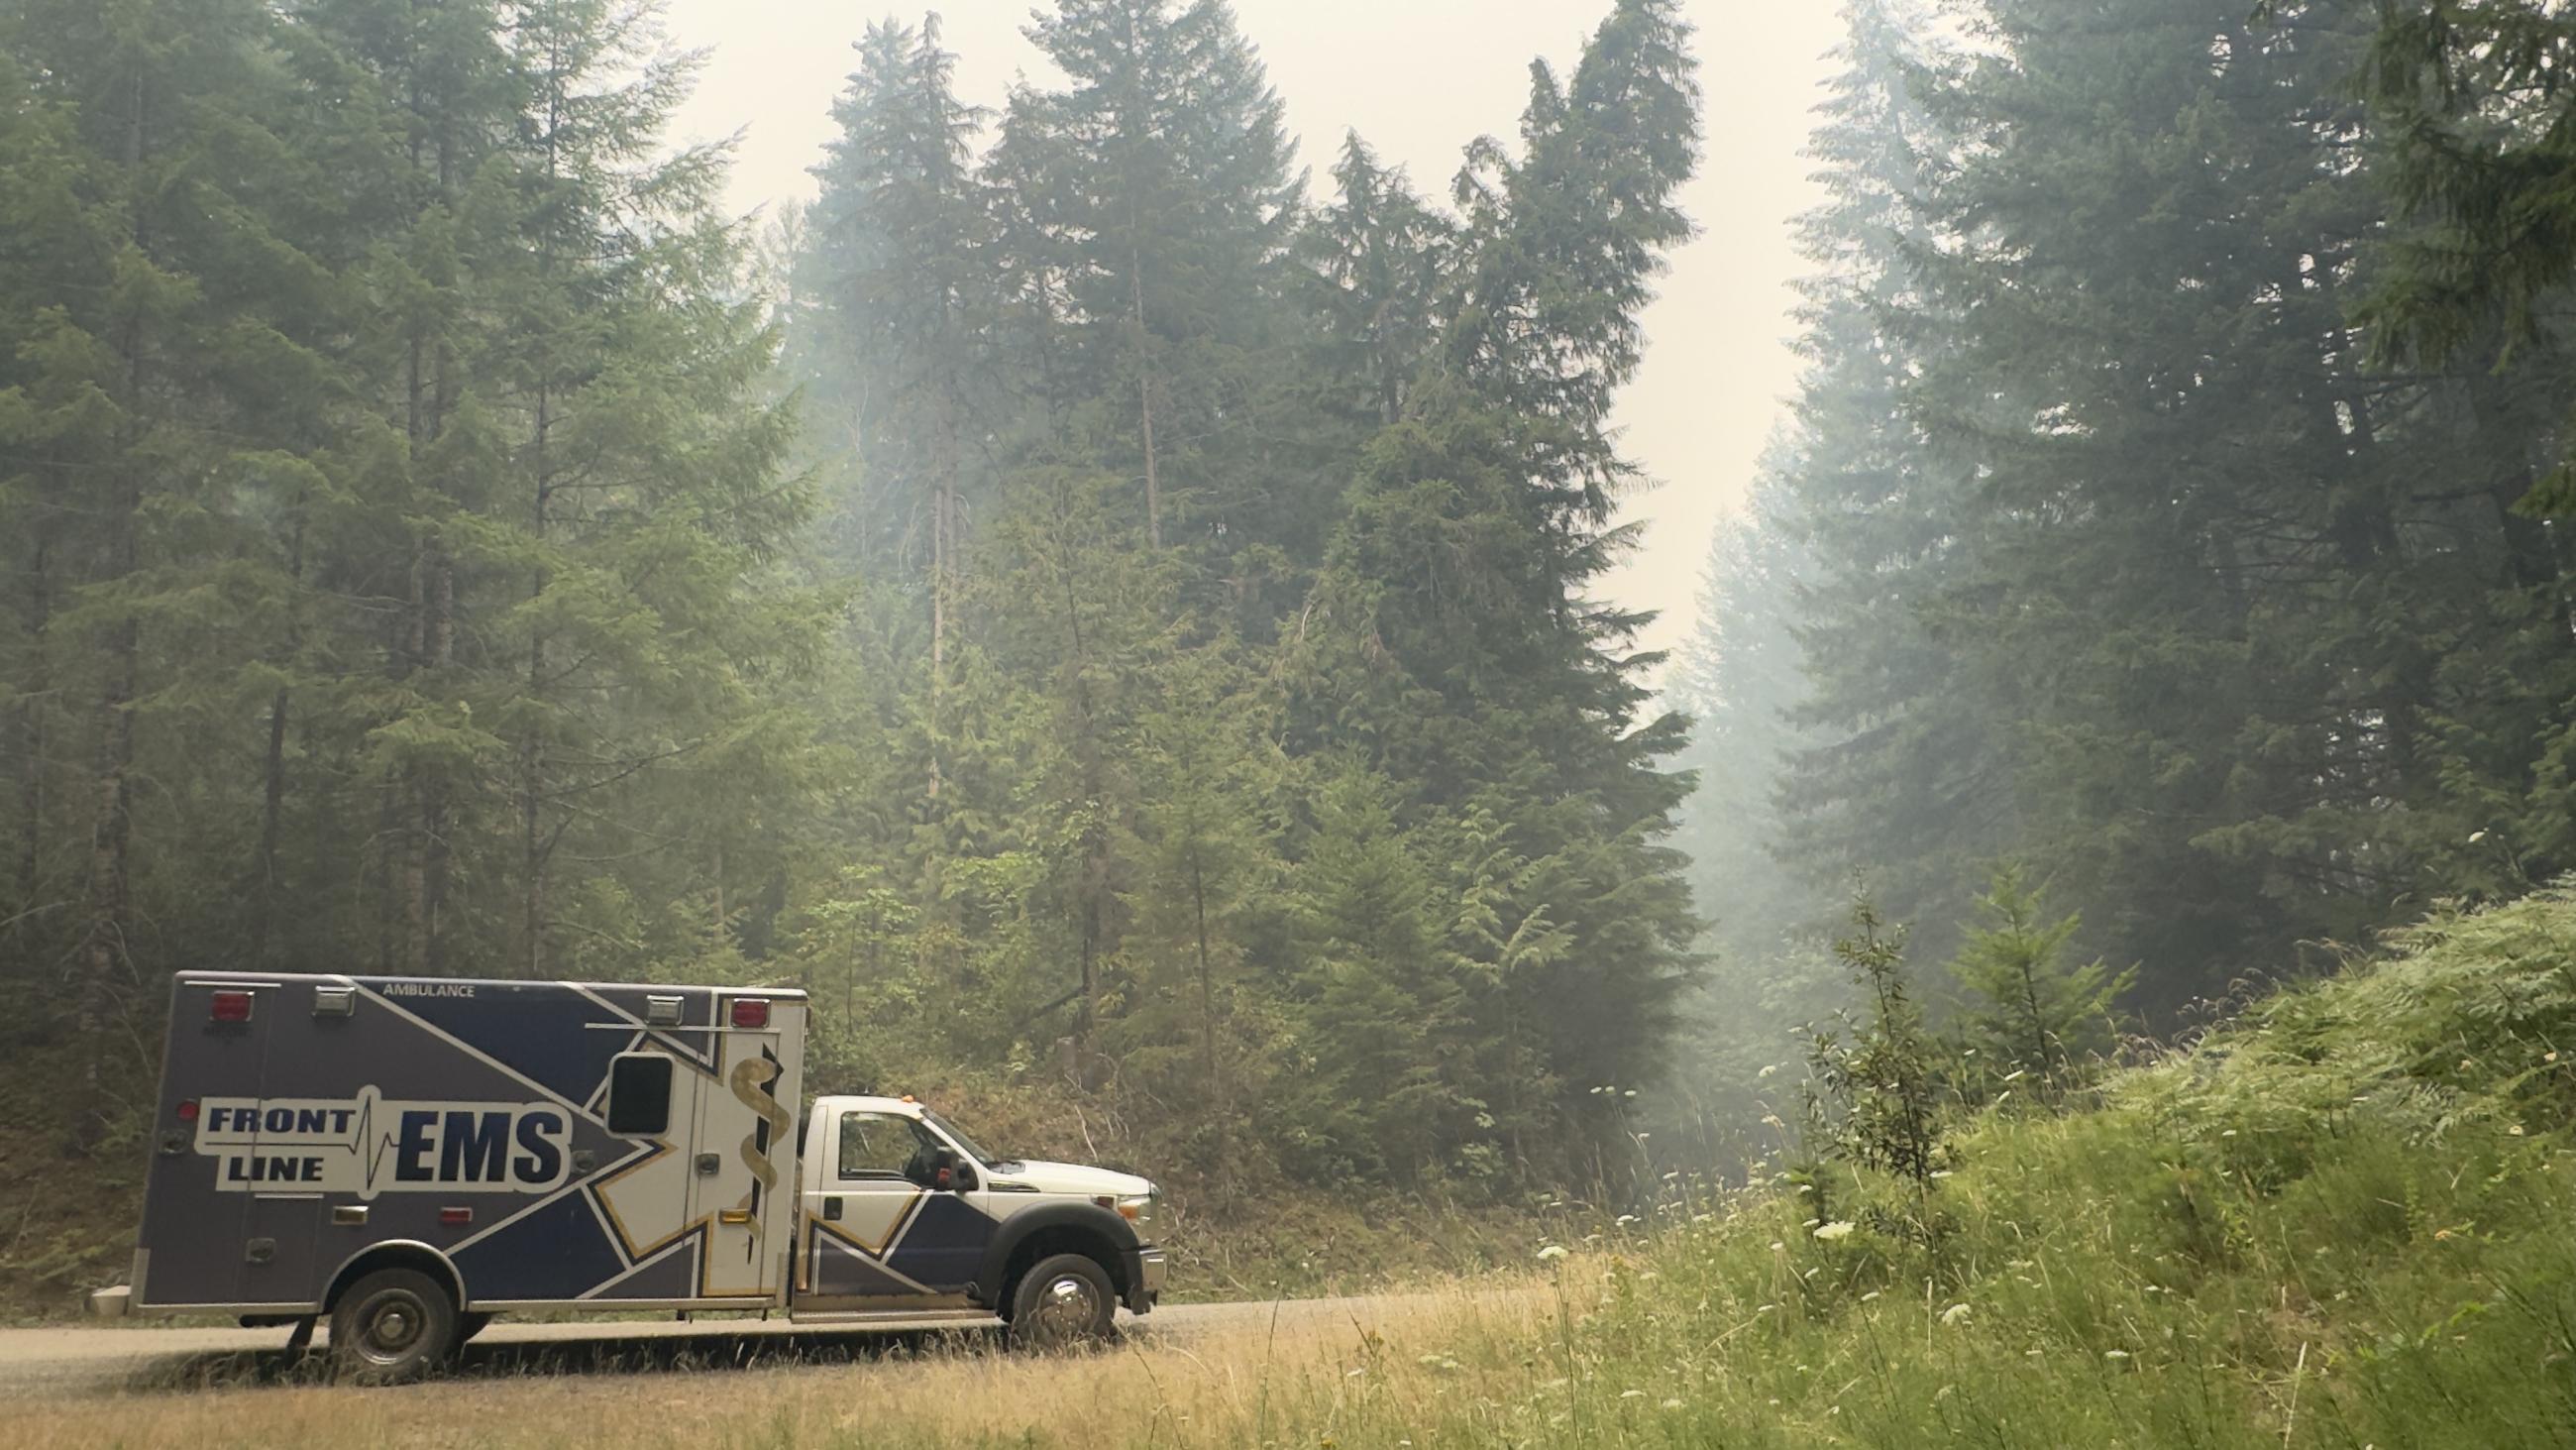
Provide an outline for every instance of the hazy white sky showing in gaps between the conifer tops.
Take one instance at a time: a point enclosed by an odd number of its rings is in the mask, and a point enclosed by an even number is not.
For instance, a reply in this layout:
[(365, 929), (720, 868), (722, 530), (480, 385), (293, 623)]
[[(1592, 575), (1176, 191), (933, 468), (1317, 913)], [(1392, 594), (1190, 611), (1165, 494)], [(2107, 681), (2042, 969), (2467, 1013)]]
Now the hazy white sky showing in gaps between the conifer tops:
[[(734, 206), (811, 196), (806, 167), (827, 139), (829, 103), (853, 67), (850, 41), (878, 15), (935, 8), (958, 85), (999, 108), (1018, 77), (1054, 80), (1020, 33), (1030, 0), (858, 5), (827, 0), (670, 0), (670, 39), (708, 49), (680, 139), (742, 134)], [(1288, 126), (1321, 178), (1342, 131), (1358, 129), (1414, 185), (1445, 196), (1458, 152), (1510, 137), (1528, 100), (1528, 64), (1564, 72), (1607, 0), (1234, 0), (1260, 46)], [(1731, 513), (1798, 376), (1788, 348), (1801, 263), (1788, 221), (1814, 203), (1801, 155), (1808, 108), (1837, 41), (1834, 0), (1687, 0), (1700, 26), (1708, 157), (1687, 196), (1700, 237), (1672, 258), (1646, 314), (1646, 366), (1620, 402), (1628, 453), (1654, 489), (1628, 500), (1643, 549), (1605, 592), (1664, 610), (1649, 646), (1677, 646), (1695, 618), (1708, 531)]]

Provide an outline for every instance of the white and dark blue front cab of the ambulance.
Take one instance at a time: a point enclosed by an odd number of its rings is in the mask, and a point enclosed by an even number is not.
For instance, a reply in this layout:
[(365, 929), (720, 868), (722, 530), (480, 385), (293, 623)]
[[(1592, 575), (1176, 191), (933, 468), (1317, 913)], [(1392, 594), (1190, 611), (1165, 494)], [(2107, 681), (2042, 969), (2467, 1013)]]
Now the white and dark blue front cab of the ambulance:
[(1162, 1195), (1136, 1174), (989, 1149), (912, 1097), (817, 1097), (799, 1154), (791, 1306), (999, 1313), (1025, 1339), (1105, 1332), (1162, 1295)]

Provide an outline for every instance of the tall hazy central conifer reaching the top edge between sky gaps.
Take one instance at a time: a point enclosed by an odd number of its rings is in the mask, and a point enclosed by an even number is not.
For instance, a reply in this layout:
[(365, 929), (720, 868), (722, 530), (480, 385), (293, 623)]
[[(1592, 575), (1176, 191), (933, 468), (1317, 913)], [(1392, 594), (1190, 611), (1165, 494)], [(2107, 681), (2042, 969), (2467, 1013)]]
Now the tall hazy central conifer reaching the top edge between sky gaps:
[(1064, 0), (1028, 33), (1069, 85), (1012, 93), (1002, 149), (1061, 286), (1066, 425), (1139, 482), (1154, 549), (1182, 520), (1211, 564), (1311, 533), (1311, 500), (1244, 438), (1278, 404), (1260, 358), (1298, 211), (1260, 57), (1224, 0)]

